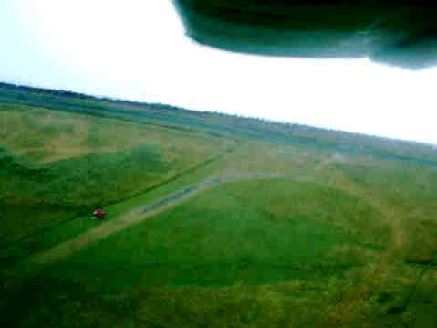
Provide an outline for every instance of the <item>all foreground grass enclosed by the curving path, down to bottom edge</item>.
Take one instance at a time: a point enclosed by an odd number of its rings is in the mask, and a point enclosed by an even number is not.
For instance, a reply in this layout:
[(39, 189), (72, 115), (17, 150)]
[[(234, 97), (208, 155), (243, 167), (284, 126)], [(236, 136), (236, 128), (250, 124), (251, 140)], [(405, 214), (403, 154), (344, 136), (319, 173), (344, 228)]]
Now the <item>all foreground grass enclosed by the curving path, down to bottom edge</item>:
[[(375, 227), (359, 227), (359, 220)], [(222, 185), (42, 270), (23, 292), (53, 292), (30, 302), (22, 326), (68, 327), (73, 317), (81, 326), (325, 323), (329, 309), (377, 266), (390, 244), (385, 223), (359, 198), (317, 183)], [(386, 273), (359, 303), (366, 324), (410, 323), (422, 299), (432, 304), (423, 288), (411, 298), (421, 268), (398, 262)], [(407, 301), (401, 317), (387, 314)]]

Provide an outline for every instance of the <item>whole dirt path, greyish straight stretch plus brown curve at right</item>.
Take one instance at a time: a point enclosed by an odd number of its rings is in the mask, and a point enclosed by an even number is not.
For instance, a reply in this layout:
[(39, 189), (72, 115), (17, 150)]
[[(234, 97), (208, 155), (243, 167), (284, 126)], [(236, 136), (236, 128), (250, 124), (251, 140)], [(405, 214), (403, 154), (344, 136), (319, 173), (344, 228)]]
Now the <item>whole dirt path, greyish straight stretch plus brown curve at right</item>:
[[(313, 173), (320, 174), (321, 171), (328, 166), (328, 164), (343, 160), (344, 158), (341, 154), (335, 153), (321, 161), (320, 164), (313, 169)], [(169, 196), (162, 197), (151, 204), (131, 211), (123, 217), (104, 222), (99, 227), (95, 227), (76, 238), (72, 238), (52, 249), (47, 249), (39, 254), (36, 254), (30, 260), (40, 264), (49, 264), (60, 259), (65, 259), (72, 253), (80, 249), (84, 249), (100, 239), (107, 238), (109, 235), (117, 233), (124, 228), (156, 216), (167, 209), (177, 206), (182, 202), (185, 202), (192, 197), (213, 188), (216, 185), (255, 178), (269, 179), (277, 177), (306, 180), (308, 176), (253, 173), (245, 175), (221, 175), (211, 177), (202, 183), (188, 185)], [(350, 183), (338, 184), (336, 187), (348, 192), (349, 194), (362, 197), (366, 202), (369, 203), (369, 205), (380, 210), (380, 212), (390, 222), (393, 233), (390, 246), (380, 255), (380, 259), (376, 267), (369, 268), (369, 270), (364, 272), (363, 282), (357, 288), (351, 290), (341, 302), (329, 310), (326, 320), (324, 320), (323, 323), (320, 323), (321, 327), (337, 327), (342, 326), (342, 324), (343, 326), (344, 324), (348, 325), (349, 320), (351, 320), (352, 317), (357, 314), (356, 310), (359, 309), (360, 303), (369, 299), (375, 285), (378, 285), (380, 279), (387, 274), (388, 270), (390, 270), (390, 262), (396, 257), (402, 247), (404, 247), (406, 241), (403, 221), (400, 214), (397, 213), (393, 208), (383, 204), (383, 202), (380, 202), (378, 199), (374, 199), (373, 197), (366, 195), (358, 186), (355, 187), (350, 185)]]

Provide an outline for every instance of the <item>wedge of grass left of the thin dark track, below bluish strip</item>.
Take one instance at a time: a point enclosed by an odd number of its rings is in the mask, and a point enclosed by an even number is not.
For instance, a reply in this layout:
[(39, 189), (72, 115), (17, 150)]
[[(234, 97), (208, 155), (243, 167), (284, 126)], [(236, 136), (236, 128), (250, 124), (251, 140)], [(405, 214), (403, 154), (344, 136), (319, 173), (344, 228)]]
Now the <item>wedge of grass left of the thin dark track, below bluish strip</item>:
[(2, 258), (40, 249), (49, 244), (42, 238), (47, 229), (141, 195), (231, 144), (204, 133), (42, 109), (8, 108), (0, 117), (2, 245), (20, 244), (2, 250)]

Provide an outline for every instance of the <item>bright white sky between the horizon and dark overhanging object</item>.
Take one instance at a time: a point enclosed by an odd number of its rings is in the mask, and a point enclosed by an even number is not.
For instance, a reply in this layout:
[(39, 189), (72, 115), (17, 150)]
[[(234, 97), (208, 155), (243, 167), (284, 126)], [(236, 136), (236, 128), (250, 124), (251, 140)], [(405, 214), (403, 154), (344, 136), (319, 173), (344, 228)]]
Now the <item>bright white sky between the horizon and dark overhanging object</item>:
[(437, 69), (199, 46), (170, 0), (0, 0), (0, 81), (437, 144)]

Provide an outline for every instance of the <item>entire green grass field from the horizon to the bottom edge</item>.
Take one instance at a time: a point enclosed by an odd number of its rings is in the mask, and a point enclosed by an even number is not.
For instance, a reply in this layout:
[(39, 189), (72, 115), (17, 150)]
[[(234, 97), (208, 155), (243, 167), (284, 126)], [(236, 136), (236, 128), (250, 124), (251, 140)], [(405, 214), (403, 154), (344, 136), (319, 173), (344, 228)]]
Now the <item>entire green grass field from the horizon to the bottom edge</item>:
[(53, 92), (0, 86), (2, 326), (437, 326), (432, 146)]

